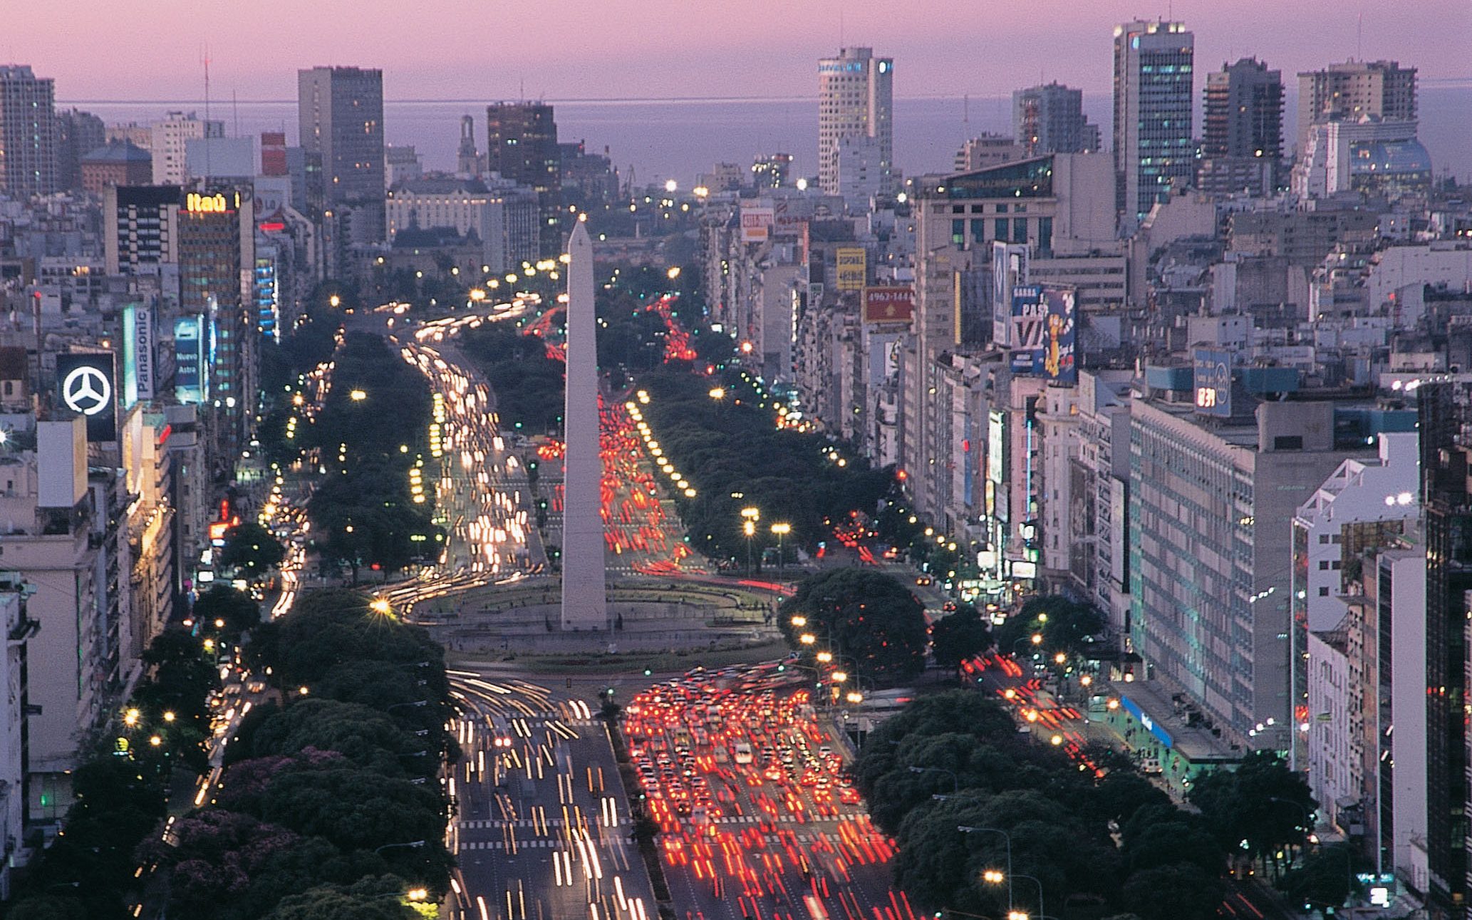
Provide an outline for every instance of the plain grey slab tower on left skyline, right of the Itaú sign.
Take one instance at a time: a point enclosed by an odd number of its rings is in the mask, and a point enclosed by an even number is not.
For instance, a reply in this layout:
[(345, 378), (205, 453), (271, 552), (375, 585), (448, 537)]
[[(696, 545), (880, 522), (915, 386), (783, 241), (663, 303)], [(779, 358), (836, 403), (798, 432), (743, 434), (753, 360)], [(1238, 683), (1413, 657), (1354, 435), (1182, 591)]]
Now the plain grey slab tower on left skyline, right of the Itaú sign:
[(322, 158), (325, 206), (350, 218), (356, 244), (383, 240), (383, 71), (297, 71), (300, 143)]

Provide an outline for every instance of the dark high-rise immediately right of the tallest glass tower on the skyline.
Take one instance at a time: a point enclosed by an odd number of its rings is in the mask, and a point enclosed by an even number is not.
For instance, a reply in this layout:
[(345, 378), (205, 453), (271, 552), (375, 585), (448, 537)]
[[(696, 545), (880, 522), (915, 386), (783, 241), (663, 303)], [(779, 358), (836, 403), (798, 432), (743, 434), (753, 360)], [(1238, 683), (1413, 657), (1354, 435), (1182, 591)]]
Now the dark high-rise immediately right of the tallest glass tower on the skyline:
[(1239, 181), (1244, 171), (1256, 166), (1267, 172), (1270, 187), (1278, 185), (1284, 150), (1284, 81), (1282, 74), (1269, 71), (1256, 57), (1222, 65), (1206, 78), (1204, 138), (1201, 141), (1201, 178), (1198, 185), (1219, 191), (1213, 184), (1222, 177), (1234, 177), (1228, 188)]

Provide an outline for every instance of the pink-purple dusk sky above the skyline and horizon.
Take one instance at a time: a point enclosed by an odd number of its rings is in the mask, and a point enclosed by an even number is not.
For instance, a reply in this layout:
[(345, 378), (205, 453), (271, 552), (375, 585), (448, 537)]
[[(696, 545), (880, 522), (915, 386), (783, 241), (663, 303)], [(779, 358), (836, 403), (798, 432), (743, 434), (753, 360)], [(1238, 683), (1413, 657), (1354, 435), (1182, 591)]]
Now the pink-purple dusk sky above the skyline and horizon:
[[(1110, 35), (1167, 7), (1201, 71), (1256, 54), (1285, 77), (1356, 56), (1472, 78), (1466, 0), (62, 0), (15, 3), (3, 62), (59, 100), (293, 99), (296, 69), (384, 69), (389, 99), (807, 96), (842, 41), (896, 59), (896, 96), (1110, 85)], [(1460, 35), (1460, 40), (1453, 37)], [(1198, 91), (1203, 78), (1197, 78)]]

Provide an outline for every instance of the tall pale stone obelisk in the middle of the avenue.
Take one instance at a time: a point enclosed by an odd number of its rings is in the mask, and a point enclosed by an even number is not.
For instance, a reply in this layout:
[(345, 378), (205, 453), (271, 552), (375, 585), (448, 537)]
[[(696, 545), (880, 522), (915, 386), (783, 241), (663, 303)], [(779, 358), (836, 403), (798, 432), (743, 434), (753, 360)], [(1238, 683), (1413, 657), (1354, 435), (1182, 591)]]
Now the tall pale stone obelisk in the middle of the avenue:
[(606, 630), (604, 458), (598, 450), (598, 319), (593, 241), (578, 221), (567, 244), (567, 403), (562, 424), (562, 629)]

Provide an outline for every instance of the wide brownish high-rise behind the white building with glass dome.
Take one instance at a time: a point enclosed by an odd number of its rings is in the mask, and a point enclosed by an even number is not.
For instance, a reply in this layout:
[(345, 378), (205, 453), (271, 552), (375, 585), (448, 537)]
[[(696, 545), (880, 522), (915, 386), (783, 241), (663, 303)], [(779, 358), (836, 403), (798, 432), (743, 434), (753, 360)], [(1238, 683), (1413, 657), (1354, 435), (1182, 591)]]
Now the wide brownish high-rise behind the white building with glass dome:
[(1360, 121), (1416, 121), (1416, 68), (1395, 60), (1345, 60), (1298, 74), (1298, 155), (1314, 125)]

